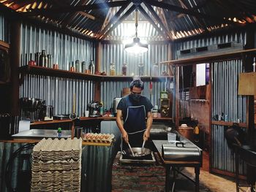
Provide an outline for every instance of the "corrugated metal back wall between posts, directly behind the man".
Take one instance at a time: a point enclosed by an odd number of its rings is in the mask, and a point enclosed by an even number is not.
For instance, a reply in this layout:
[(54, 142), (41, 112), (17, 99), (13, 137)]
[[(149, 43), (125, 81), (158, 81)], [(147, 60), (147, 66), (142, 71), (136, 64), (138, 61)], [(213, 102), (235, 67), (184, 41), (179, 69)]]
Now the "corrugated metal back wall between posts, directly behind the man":
[[(152, 74), (153, 64), (159, 64), (160, 61), (167, 61), (168, 45), (148, 45), (148, 52), (142, 55), (130, 55), (124, 51), (124, 45), (121, 44), (103, 44), (102, 45), (102, 71), (109, 74), (110, 63), (116, 66), (116, 75), (121, 75), (121, 67), (127, 64), (127, 75), (138, 76), (138, 64), (144, 65), (144, 74), (150, 76)], [(167, 65), (159, 66), (159, 75), (167, 72)], [(105, 109), (113, 107), (113, 99), (121, 97), (123, 88), (129, 88), (130, 82), (102, 82), (101, 98)], [(160, 91), (165, 91), (165, 82), (153, 82), (152, 94), (149, 91), (149, 83), (144, 82), (143, 96), (147, 96), (153, 105), (159, 106)]]

